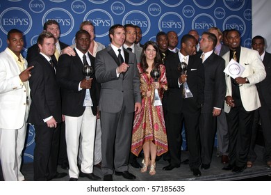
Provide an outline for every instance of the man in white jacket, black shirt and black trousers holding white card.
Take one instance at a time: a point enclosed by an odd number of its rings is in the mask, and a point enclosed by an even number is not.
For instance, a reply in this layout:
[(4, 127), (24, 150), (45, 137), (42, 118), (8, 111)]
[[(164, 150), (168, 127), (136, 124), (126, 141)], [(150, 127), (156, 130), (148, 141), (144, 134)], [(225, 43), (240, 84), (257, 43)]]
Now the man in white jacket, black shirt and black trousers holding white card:
[(229, 130), (229, 165), (223, 169), (240, 173), (247, 167), (254, 111), (261, 107), (255, 84), (265, 79), (266, 72), (257, 51), (240, 47), (240, 33), (237, 30), (229, 30), (227, 40), (230, 50), (222, 56), (226, 65), (234, 59), (245, 70), (236, 79), (226, 75), (224, 111)]

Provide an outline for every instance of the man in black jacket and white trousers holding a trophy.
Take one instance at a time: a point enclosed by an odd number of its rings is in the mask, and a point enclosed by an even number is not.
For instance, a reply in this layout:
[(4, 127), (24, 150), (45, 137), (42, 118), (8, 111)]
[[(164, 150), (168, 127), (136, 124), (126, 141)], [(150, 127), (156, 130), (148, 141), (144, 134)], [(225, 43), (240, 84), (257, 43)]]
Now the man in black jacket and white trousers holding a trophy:
[[(84, 65), (90, 65), (93, 68), (95, 57), (88, 53), (90, 45), (88, 31), (77, 31), (75, 42), (76, 56), (61, 55), (57, 66), (57, 80), (61, 88), (62, 111), (66, 125), (69, 180), (76, 181), (79, 176), (99, 180), (100, 178), (92, 173), (99, 86), (94, 72), (90, 79), (86, 79), (83, 74)], [(81, 136), (81, 145), (79, 136)], [(82, 152), (81, 170), (77, 166), (79, 145)]]

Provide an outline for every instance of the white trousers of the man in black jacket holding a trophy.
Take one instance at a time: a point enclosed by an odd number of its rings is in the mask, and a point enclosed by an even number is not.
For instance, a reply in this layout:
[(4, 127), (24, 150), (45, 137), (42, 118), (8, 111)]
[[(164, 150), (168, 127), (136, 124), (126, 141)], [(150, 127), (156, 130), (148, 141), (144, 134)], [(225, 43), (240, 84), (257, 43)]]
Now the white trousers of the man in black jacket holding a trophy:
[(65, 116), (67, 157), (69, 160), (69, 178), (78, 178), (79, 169), (77, 157), (79, 150), (79, 137), (81, 136), (81, 171), (92, 173), (94, 144), (95, 144), (96, 116), (92, 114), (91, 107), (85, 107), (82, 116)]

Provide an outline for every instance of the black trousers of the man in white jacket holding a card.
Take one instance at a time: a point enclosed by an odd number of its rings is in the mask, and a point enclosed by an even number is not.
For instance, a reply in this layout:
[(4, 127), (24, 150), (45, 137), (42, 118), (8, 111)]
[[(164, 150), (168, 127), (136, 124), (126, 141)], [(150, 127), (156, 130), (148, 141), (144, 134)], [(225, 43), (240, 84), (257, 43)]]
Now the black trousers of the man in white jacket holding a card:
[(245, 111), (243, 106), (233, 107), (226, 117), (229, 130), (229, 164), (246, 166), (254, 111)]

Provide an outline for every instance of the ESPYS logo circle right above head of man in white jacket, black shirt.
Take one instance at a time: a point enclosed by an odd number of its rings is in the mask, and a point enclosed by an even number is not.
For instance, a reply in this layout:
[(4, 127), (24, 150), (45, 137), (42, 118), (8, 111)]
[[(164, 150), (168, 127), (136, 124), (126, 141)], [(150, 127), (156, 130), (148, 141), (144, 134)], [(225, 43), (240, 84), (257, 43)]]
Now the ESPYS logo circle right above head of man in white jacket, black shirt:
[(238, 15), (231, 15), (223, 22), (223, 31), (226, 29), (236, 29), (240, 32), (241, 36), (245, 34), (245, 22)]

